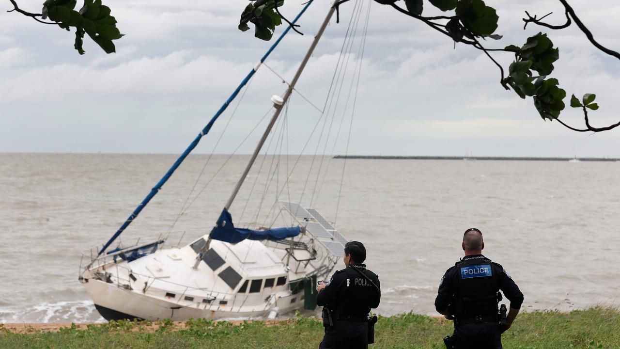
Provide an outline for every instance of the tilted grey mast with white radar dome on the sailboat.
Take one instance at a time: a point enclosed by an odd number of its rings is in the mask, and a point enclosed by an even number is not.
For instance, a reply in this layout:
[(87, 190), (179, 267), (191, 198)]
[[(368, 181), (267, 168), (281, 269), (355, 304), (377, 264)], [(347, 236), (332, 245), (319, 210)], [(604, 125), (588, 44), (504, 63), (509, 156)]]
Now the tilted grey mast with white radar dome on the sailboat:
[[(280, 116), (280, 113), (282, 112), (282, 109), (284, 105), (286, 104), (286, 101), (288, 101), (288, 97), (290, 97), (291, 93), (293, 93), (293, 89), (295, 88), (295, 84), (299, 80), (299, 76), (301, 76), (302, 71), (304, 70), (304, 68), (306, 68), (306, 64), (310, 60), (310, 57), (312, 57), (312, 52), (314, 52), (314, 48), (316, 48), (317, 43), (319, 43), (319, 40), (321, 40), (321, 36), (323, 35), (323, 32), (325, 31), (325, 28), (329, 24), (329, 20), (332, 18), (332, 15), (334, 15), (335, 11), (336, 11), (335, 6), (330, 7), (329, 12), (327, 12), (327, 16), (325, 17), (325, 20), (323, 20), (323, 24), (321, 25), (321, 28), (319, 29), (319, 32), (317, 32), (316, 36), (314, 37), (314, 40), (312, 40), (312, 44), (310, 45), (310, 48), (308, 48), (306, 57), (304, 57), (303, 61), (301, 61), (301, 65), (299, 65), (299, 68), (297, 72), (295, 73), (293, 80), (288, 85), (288, 88), (286, 89), (286, 92), (284, 93), (284, 95), (281, 97), (281, 100), (278, 101), (278, 100), (274, 100), (276, 98), (272, 98), (275, 112), (273, 113), (272, 119), (270, 120), (269, 125), (267, 126), (267, 129), (265, 130), (265, 132), (263, 132), (262, 137), (260, 137), (259, 143), (254, 149), (254, 153), (252, 153), (252, 157), (250, 158), (250, 161), (247, 163), (246, 170), (244, 170), (243, 173), (241, 174), (241, 178), (239, 178), (239, 181), (234, 187), (231, 196), (229, 197), (228, 201), (226, 202), (226, 205), (224, 206), (224, 209), (226, 211), (230, 209), (232, 202), (234, 201), (235, 197), (237, 197), (237, 193), (239, 193), (239, 189), (241, 189), (243, 182), (246, 180), (247, 174), (252, 169), (252, 165), (254, 165), (254, 161), (259, 155), (260, 149), (263, 147), (263, 144), (267, 140), (267, 137), (270, 134), (271, 130), (273, 129), (273, 125), (275, 125), (276, 120), (278, 120), (278, 116)], [(201, 255), (203, 255), (203, 253), (205, 253), (209, 249), (210, 243), (211, 243), (211, 237), (208, 238), (205, 247), (203, 247), (200, 253), (198, 253), (197, 261), (196, 261), (196, 264), (194, 265), (194, 268), (197, 268), (198, 263), (200, 262)]]

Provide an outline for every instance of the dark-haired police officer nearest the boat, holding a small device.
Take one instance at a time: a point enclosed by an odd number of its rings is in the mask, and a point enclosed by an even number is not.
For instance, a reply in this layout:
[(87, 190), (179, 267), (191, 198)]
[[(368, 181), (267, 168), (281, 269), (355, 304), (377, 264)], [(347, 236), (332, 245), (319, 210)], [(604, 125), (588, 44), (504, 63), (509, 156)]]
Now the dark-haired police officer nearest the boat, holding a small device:
[(319, 348), (368, 348), (368, 313), (379, 306), (379, 276), (366, 269), (366, 248), (361, 242), (345, 245), (346, 268), (329, 282), (317, 284), (317, 306), (323, 306), (325, 336)]

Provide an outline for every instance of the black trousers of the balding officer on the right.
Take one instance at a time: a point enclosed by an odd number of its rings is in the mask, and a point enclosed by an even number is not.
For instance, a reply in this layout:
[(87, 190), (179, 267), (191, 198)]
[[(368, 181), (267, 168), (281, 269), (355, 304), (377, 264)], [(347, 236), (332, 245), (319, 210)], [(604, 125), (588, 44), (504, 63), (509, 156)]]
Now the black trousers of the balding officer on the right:
[(457, 325), (456, 349), (502, 349), (502, 332), (497, 322)]

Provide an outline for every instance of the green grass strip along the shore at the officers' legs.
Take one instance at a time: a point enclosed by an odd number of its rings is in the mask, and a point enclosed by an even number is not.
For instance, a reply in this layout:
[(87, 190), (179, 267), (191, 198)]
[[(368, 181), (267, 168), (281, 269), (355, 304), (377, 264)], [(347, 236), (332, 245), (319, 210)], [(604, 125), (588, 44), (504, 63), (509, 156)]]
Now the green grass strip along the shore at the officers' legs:
[[(110, 322), (77, 326), (59, 332), (14, 333), (0, 325), (0, 348), (317, 348), (323, 327), (317, 319), (213, 322), (170, 320)], [(417, 314), (381, 317), (371, 348), (444, 348), (441, 338), (452, 323)], [(570, 313), (556, 311), (521, 314), (503, 335), (504, 348), (613, 348), (620, 349), (620, 311), (595, 307)]]

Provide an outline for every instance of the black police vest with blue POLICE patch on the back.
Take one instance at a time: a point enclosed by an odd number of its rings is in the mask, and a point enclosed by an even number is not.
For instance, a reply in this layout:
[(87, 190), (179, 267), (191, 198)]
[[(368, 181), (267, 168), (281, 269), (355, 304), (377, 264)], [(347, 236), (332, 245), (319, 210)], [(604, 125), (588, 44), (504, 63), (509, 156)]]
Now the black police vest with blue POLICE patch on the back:
[(464, 258), (456, 268), (459, 273), (453, 309), (456, 319), (497, 314), (499, 283), (491, 260)]

